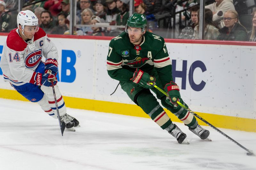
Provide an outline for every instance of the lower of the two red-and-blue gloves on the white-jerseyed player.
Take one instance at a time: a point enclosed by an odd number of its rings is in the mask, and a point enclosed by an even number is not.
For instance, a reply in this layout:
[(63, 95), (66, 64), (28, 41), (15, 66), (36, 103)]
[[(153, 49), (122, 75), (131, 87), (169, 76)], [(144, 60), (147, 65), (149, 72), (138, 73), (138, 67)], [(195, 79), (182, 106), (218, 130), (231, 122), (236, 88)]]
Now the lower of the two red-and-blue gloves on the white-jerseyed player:
[(44, 85), (44, 86), (50, 87), (50, 86), (52, 86), (52, 80), (53, 80), (53, 85), (56, 85), (57, 80), (53, 74), (36, 73), (36, 75), (35, 75), (35, 84), (36, 85)]

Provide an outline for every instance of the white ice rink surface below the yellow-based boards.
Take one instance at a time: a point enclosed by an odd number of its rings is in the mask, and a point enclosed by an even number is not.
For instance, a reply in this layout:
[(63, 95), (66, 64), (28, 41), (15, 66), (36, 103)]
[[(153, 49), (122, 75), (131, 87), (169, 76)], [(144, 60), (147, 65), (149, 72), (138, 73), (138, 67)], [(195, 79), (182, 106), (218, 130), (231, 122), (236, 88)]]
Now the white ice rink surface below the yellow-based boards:
[[(81, 127), (76, 132), (65, 130), (62, 137), (58, 120), (36, 103), (0, 99), (0, 169), (256, 169), (255, 156), (247, 156), (244, 149), (209, 126), (205, 128), (212, 142), (175, 123), (190, 142), (178, 144), (151, 119), (67, 109)], [(256, 133), (220, 130), (256, 152)]]

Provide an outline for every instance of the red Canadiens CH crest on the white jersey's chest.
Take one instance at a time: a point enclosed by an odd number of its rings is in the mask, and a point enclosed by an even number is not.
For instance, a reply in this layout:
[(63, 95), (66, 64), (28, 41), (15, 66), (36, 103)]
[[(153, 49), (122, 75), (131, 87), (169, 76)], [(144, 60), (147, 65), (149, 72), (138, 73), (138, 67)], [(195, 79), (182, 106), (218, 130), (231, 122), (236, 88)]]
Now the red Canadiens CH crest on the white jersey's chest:
[(27, 68), (33, 68), (38, 63), (40, 63), (41, 59), (42, 59), (42, 49), (38, 49), (36, 51), (33, 51), (26, 57), (25, 65)]

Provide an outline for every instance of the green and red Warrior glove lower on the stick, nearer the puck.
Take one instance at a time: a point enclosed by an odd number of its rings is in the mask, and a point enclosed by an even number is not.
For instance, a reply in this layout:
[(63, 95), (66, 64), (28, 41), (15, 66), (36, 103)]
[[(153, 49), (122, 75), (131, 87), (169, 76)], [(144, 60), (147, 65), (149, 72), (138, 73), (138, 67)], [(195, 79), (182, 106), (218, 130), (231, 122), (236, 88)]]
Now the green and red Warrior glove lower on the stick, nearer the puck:
[(180, 88), (179, 86), (171, 81), (164, 86), (164, 91), (167, 93), (166, 103), (173, 107), (178, 107), (177, 101), (180, 100)]

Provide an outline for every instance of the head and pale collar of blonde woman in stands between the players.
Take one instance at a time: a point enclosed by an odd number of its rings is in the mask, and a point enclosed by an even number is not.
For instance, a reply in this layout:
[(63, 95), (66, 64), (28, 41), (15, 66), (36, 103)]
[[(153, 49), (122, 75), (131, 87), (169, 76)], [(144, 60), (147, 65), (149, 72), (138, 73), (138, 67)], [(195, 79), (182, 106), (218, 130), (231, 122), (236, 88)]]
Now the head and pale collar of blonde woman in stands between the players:
[[(81, 24), (82, 25), (90, 25), (90, 21), (93, 16), (92, 10), (89, 8), (86, 8), (82, 12), (81, 15), (82, 15)], [(88, 33), (92, 33), (92, 28), (90, 26), (84, 26), (84, 27), (82, 27), (82, 31), (83, 31), (84, 35), (87, 35)]]

